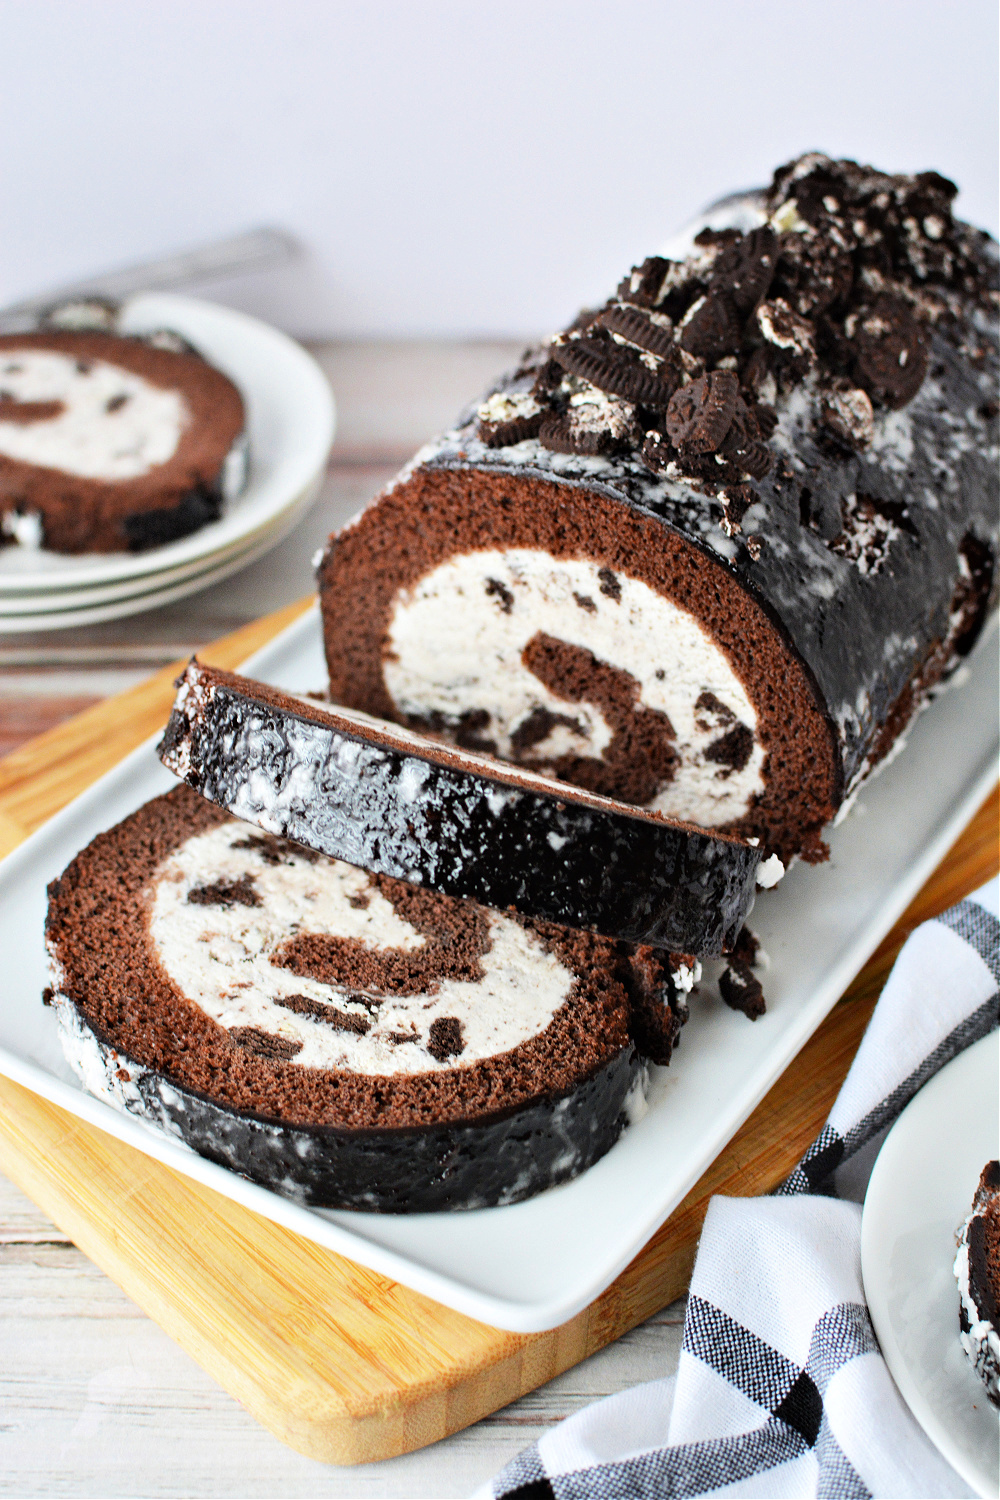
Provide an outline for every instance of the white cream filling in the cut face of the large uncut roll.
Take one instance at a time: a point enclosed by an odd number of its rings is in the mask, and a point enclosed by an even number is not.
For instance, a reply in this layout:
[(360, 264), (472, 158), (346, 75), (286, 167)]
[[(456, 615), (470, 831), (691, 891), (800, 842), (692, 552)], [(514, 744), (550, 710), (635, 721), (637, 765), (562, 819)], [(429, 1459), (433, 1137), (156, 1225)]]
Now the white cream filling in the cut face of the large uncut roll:
[[(679, 765), (649, 807), (708, 828), (739, 818), (763, 790), (765, 759), (744, 684), (691, 614), (621, 573), (621, 597), (603, 594), (600, 572), (588, 560), (526, 548), (448, 558), (396, 597), (384, 663), (390, 696), (402, 714), (418, 717), (484, 710), (489, 723), (477, 734), (493, 740), (504, 759), (513, 759), (519, 724), (547, 710), (574, 723), (556, 724), (520, 759), (600, 759), (613, 734), (600, 706), (558, 698), (522, 662), (535, 634), (553, 636), (628, 672), (640, 684), (639, 704), (670, 718)], [(733, 720), (697, 708), (703, 693)], [(754, 746), (735, 771), (706, 752), (738, 723), (754, 734)]]

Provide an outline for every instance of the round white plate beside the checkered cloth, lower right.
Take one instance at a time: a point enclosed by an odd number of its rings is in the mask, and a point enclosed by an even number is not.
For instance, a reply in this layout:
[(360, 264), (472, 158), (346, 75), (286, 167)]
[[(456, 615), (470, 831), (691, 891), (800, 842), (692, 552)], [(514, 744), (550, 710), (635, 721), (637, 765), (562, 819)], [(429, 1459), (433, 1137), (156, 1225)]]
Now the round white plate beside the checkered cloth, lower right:
[(882, 1353), (927, 1436), (981, 1496), (1000, 1480), (1000, 1412), (958, 1341), (955, 1230), (999, 1155), (997, 1034), (925, 1083), (885, 1138), (861, 1221)]

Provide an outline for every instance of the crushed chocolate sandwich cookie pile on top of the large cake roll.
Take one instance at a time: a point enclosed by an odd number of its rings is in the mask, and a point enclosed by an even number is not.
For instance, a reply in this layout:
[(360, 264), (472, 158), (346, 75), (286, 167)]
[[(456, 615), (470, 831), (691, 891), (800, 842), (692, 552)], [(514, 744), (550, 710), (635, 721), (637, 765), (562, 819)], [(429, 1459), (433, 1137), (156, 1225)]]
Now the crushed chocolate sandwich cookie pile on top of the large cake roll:
[(684, 261), (649, 256), (529, 351), (519, 387), (480, 406), (481, 441), (636, 454), (717, 498), (733, 536), (781, 453), (775, 405), (802, 387), (817, 441), (864, 450), (879, 411), (921, 390), (931, 328), (958, 322), (960, 298), (988, 303), (955, 192), (937, 172), (819, 153), (781, 166), (757, 228), (703, 230)]

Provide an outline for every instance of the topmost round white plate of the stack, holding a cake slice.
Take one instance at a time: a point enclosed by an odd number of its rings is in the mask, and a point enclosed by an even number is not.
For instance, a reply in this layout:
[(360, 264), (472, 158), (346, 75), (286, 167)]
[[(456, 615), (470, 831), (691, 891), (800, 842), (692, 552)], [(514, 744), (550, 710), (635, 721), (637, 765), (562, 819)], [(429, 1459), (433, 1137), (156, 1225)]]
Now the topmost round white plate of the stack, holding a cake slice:
[(121, 328), (126, 333), (172, 328), (238, 386), (250, 447), (247, 486), (226, 506), (220, 520), (148, 552), (64, 556), (3, 548), (0, 598), (102, 586), (211, 562), (271, 525), (324, 470), (334, 432), (333, 396), (316, 362), (294, 339), (243, 312), (172, 292), (132, 297), (124, 303)]

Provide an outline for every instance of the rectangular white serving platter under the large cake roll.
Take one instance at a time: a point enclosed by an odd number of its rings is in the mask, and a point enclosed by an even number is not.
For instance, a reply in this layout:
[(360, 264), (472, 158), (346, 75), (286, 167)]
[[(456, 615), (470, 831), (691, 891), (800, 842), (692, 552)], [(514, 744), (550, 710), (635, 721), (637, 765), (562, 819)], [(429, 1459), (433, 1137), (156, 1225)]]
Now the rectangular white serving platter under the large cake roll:
[[(300, 1234), (471, 1317), (519, 1332), (564, 1323), (613, 1281), (763, 1098), (948, 850), (997, 776), (997, 633), (961, 692), (916, 723), (834, 830), (826, 866), (793, 868), (753, 918), (771, 956), (768, 1014), (693, 1005), (649, 1113), (576, 1182), (471, 1214), (379, 1216), (304, 1209), (195, 1156), (85, 1095), (39, 1004), (45, 884), (102, 828), (174, 784), (150, 740), (0, 864), (0, 1072)], [(292, 690), (325, 681), (316, 612), (246, 663)]]

